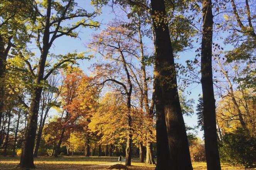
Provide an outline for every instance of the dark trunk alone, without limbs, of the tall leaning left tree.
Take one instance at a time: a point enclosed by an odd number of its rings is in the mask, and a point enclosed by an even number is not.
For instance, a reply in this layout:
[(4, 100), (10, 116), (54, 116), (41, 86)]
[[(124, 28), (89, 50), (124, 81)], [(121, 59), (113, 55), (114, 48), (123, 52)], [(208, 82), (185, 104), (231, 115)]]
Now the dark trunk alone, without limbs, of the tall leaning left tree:
[(25, 133), (25, 141), (22, 148), (22, 154), (20, 157), (19, 168), (35, 168), (34, 165), (34, 145), (35, 135), (37, 130), (37, 118), (39, 110), (39, 102), (42, 93), (42, 87), (40, 86), (41, 81), (44, 79), (44, 68), (47, 55), (49, 52), (49, 38), (50, 38), (50, 16), (51, 16), (51, 0), (48, 0), (47, 12), (46, 12), (46, 23), (43, 37), (43, 47), (41, 50), (41, 56), (37, 67), (37, 73), (35, 78), (35, 87), (31, 94), (31, 104), (29, 110), (29, 117), (27, 120), (27, 127)]

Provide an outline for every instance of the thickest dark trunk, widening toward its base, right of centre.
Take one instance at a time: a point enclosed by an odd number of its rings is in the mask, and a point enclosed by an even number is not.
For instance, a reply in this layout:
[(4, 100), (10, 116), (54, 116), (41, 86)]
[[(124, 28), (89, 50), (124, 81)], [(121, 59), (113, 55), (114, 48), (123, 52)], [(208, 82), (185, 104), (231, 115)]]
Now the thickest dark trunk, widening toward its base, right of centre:
[[(157, 165), (156, 168), (158, 170), (192, 170), (189, 143), (177, 90), (170, 33), (167, 23), (164, 22), (165, 19), (161, 18), (166, 17), (164, 0), (151, 0), (151, 5), (153, 15), (157, 17), (154, 19), (156, 36), (154, 81), (157, 112), (157, 164), (162, 164)], [(166, 151), (170, 157), (165, 153)]]

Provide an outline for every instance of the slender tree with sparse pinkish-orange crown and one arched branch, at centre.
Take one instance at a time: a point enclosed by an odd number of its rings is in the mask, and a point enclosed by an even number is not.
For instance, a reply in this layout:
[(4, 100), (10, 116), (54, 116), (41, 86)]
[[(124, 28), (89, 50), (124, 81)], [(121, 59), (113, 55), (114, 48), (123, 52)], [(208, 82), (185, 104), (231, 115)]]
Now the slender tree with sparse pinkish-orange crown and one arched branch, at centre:
[[(114, 83), (118, 91), (126, 96), (127, 121), (130, 128), (126, 142), (126, 162), (125, 165), (131, 165), (131, 144), (132, 144), (132, 118), (131, 118), (131, 97), (134, 85), (132, 83), (132, 53), (138, 48), (138, 44), (132, 43), (132, 39), (126, 39), (131, 36), (131, 32), (121, 25), (113, 23), (103, 32), (95, 35), (94, 40), (89, 47), (99, 52), (105, 59), (113, 60), (115, 65), (104, 64), (96, 65), (96, 73), (99, 77), (98, 85), (104, 85), (107, 82)], [(108, 71), (107, 71), (108, 70)], [(120, 72), (118, 72), (120, 71)], [(119, 77), (118, 77), (119, 74)], [(121, 76), (121, 79), (120, 79)], [(118, 79), (119, 78), (119, 79)], [(125, 81), (124, 81), (125, 80)], [(121, 87), (121, 89), (120, 89)]]

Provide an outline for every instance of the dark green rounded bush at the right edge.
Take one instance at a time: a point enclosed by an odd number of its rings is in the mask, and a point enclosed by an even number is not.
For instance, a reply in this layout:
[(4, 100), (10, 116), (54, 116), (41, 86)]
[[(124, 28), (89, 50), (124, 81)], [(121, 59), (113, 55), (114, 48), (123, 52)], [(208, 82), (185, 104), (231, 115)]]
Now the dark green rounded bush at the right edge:
[(223, 162), (243, 165), (246, 168), (256, 165), (256, 137), (249, 134), (248, 130), (237, 128), (232, 133), (226, 133), (222, 138), (220, 157)]

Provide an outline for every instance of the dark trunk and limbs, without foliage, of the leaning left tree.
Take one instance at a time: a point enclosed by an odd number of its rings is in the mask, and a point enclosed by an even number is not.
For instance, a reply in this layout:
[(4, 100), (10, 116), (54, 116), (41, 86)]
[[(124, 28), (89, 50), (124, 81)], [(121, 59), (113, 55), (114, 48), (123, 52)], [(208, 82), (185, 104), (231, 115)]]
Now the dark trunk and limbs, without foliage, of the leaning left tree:
[[(31, 94), (31, 104), (29, 109), (29, 115), (27, 120), (27, 127), (26, 127), (26, 133), (25, 133), (25, 141), (22, 148), (22, 154), (20, 158), (20, 164), (18, 165), (19, 168), (35, 168), (34, 165), (34, 157), (33, 157), (33, 151), (34, 151), (34, 144), (35, 144), (35, 135), (37, 130), (37, 117), (38, 117), (38, 110), (39, 110), (39, 102), (41, 98), (42, 93), (42, 86), (40, 85), (42, 80), (47, 80), (47, 78), (56, 70), (57, 68), (61, 67), (62, 64), (66, 62), (70, 62), (71, 60), (75, 58), (69, 58), (66, 60), (63, 60), (59, 63), (57, 63), (52, 69), (44, 76), (44, 69), (45, 69), (45, 62), (47, 59), (47, 55), (49, 52), (49, 49), (52, 46), (52, 43), (56, 38), (62, 37), (63, 35), (70, 35), (73, 30), (80, 26), (92, 26), (92, 27), (98, 27), (96, 25), (86, 24), (85, 22), (77, 23), (66, 30), (66, 32), (61, 31), (61, 23), (63, 21), (66, 21), (68, 18), (77, 18), (77, 17), (93, 17), (95, 16), (95, 13), (86, 13), (83, 15), (72, 15), (67, 17), (67, 13), (69, 13), (69, 10), (72, 10), (71, 4), (73, 0), (67, 1), (67, 5), (60, 9), (61, 11), (58, 11), (61, 13), (61, 16), (57, 18), (56, 20), (51, 20), (51, 8), (52, 8), (52, 0), (47, 0), (47, 9), (45, 12), (45, 16), (43, 16), (43, 20), (45, 21), (44, 25), (44, 31), (43, 31), (43, 38), (42, 38), (42, 47), (40, 43), (40, 32), (37, 38), (37, 46), (40, 49), (41, 55), (39, 59), (39, 63), (37, 66), (37, 73), (34, 74), (33, 70), (30, 69), (30, 72), (32, 75), (34, 75), (35, 80), (34, 84), (35, 87), (32, 90)], [(41, 16), (42, 14), (40, 14)], [(69, 15), (71, 15), (69, 13)], [(52, 28), (55, 27), (55, 28)], [(51, 30), (51, 31), (50, 31)], [(53, 31), (52, 31), (53, 30)], [(50, 36), (51, 35), (51, 36)], [(51, 38), (50, 38), (51, 37)], [(31, 66), (29, 64), (29, 66)], [(30, 67), (31, 68), (31, 67)], [(59, 141), (61, 144), (61, 141)], [(59, 144), (58, 144), (59, 146)]]

